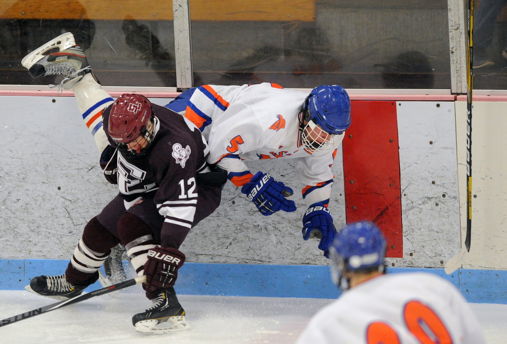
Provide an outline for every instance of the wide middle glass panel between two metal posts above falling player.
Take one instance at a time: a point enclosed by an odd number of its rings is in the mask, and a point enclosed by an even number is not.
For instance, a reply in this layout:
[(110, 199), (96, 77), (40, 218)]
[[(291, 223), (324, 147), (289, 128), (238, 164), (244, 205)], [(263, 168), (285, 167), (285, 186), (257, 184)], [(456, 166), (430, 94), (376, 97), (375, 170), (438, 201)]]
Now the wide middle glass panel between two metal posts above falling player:
[(450, 89), (447, 0), (190, 1), (197, 84)]

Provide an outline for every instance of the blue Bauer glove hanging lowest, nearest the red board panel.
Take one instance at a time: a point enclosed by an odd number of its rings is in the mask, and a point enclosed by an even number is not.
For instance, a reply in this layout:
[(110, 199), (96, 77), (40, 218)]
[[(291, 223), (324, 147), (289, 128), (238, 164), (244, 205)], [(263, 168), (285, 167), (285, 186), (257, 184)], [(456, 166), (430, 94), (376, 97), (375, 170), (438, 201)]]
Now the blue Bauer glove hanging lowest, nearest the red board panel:
[(303, 239), (320, 239), (319, 250), (324, 251), (324, 256), (329, 258), (329, 246), (334, 240), (336, 229), (334, 228), (331, 213), (323, 203), (314, 203), (305, 215), (303, 215)]

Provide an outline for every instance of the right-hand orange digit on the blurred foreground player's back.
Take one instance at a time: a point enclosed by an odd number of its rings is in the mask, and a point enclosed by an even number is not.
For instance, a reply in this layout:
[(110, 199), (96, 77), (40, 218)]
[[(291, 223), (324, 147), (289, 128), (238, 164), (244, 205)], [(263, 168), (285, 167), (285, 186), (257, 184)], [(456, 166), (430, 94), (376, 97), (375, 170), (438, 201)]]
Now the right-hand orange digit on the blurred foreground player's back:
[(446, 326), (427, 305), (419, 301), (410, 301), (405, 304), (403, 317), (409, 331), (421, 344), (452, 344), (452, 338)]

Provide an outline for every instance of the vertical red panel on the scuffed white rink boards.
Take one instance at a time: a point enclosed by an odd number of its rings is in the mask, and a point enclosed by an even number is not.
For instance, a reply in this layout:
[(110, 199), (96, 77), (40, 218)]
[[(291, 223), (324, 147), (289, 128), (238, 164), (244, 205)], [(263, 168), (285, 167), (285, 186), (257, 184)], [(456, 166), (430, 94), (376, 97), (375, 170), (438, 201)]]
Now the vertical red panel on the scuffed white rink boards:
[(352, 125), (343, 140), (347, 223), (375, 222), (387, 239), (387, 257), (403, 256), (396, 103), (352, 101)]

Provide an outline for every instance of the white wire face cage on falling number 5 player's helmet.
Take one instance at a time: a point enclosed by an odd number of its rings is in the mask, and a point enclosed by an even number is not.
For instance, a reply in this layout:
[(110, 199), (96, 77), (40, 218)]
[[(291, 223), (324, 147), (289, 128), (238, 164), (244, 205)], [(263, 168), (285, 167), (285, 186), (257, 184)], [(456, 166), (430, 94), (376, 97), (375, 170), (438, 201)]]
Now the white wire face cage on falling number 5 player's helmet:
[(329, 134), (315, 122), (309, 121), (301, 130), (301, 143), (311, 155), (321, 157), (336, 149), (343, 141), (345, 132), (341, 134)]

